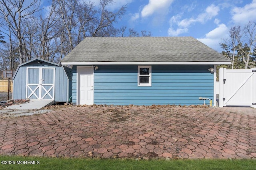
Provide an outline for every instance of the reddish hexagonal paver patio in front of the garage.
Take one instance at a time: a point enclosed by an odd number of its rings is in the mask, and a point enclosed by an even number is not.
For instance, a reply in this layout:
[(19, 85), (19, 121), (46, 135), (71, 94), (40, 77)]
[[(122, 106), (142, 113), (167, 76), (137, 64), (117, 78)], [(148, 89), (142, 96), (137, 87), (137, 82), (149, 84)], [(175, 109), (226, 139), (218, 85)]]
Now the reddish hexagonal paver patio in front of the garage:
[(0, 120), (0, 154), (256, 158), (256, 109), (67, 107)]

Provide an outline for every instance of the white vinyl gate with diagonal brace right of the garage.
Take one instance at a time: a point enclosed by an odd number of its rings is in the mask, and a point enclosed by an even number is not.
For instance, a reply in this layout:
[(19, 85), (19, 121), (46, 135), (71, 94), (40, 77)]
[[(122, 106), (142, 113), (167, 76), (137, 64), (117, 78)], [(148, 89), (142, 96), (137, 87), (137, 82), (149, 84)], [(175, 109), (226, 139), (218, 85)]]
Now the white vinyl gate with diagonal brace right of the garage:
[(219, 69), (219, 107), (256, 107), (256, 68)]

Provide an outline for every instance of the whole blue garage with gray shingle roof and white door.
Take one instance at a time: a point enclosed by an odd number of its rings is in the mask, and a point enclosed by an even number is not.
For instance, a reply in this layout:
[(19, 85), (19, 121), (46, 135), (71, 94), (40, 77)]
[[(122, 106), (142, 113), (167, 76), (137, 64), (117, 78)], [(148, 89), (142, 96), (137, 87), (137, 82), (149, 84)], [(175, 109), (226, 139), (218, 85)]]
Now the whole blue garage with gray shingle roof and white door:
[(78, 105), (216, 106), (216, 66), (224, 55), (193, 37), (86, 37), (62, 59), (73, 66)]

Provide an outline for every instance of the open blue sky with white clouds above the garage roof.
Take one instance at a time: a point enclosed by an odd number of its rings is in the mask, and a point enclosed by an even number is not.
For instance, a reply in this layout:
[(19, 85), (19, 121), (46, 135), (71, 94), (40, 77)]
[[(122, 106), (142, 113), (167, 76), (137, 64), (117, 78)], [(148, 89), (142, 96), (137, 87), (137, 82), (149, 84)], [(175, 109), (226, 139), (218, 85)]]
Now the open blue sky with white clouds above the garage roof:
[[(91, 0), (98, 4), (98, 0)], [(219, 43), (233, 26), (256, 21), (256, 0), (115, 0), (127, 4), (118, 25), (151, 31), (154, 37), (192, 36), (221, 52)]]

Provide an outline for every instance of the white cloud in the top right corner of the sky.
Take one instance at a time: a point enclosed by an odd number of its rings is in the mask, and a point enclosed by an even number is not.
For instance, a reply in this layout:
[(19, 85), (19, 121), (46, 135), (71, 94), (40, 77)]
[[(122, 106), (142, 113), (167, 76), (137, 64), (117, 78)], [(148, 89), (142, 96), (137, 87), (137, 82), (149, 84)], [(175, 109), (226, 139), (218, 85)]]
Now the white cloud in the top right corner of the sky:
[(256, 0), (244, 7), (235, 7), (232, 9), (232, 20), (235, 24), (244, 25), (250, 20), (256, 20)]

